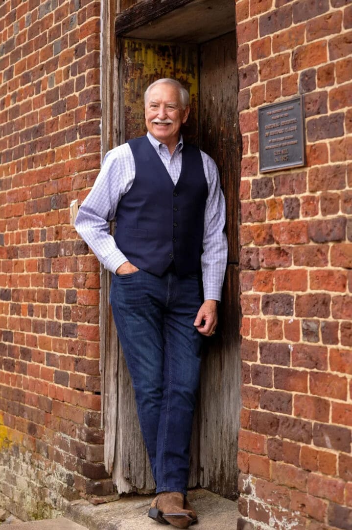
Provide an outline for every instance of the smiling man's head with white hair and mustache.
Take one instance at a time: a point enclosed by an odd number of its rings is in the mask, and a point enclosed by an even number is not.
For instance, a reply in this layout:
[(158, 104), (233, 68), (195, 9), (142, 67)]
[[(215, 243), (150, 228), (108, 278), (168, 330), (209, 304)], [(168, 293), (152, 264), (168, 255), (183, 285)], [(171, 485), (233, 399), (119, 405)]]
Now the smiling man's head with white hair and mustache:
[(180, 128), (186, 123), (189, 106), (182, 109), (180, 93), (170, 83), (159, 83), (151, 89), (145, 105), (145, 125), (173, 153), (178, 144)]

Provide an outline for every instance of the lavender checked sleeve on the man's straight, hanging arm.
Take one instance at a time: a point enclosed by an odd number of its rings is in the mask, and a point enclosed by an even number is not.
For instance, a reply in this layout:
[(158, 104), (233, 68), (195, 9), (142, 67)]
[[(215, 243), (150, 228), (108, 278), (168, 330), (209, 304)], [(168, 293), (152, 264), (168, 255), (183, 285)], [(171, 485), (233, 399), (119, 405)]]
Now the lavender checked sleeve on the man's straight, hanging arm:
[(201, 256), (204, 298), (221, 301), (221, 289), (227, 263), (227, 238), (224, 233), (225, 199), (214, 160), (203, 152), (201, 155), (208, 182)]

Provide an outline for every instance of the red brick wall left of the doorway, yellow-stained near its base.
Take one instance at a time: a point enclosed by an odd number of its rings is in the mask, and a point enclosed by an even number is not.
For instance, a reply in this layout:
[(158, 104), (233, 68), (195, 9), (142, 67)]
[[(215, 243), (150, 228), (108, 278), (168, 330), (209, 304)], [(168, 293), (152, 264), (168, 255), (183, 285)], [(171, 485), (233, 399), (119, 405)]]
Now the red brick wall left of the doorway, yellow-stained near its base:
[(0, 5), (0, 505), (26, 518), (112, 490), (99, 267), (69, 224), (100, 165), (99, 32), (98, 1)]

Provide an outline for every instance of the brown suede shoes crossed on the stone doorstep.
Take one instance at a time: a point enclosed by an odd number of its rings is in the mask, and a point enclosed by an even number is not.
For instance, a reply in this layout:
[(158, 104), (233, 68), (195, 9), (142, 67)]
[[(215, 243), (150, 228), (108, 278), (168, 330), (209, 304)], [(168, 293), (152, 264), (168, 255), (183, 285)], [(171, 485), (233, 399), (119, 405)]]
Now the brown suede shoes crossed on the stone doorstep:
[(171, 524), (177, 528), (188, 528), (196, 522), (194, 510), (184, 508), (184, 495), (179, 492), (159, 493), (153, 500), (148, 515), (158, 523)]

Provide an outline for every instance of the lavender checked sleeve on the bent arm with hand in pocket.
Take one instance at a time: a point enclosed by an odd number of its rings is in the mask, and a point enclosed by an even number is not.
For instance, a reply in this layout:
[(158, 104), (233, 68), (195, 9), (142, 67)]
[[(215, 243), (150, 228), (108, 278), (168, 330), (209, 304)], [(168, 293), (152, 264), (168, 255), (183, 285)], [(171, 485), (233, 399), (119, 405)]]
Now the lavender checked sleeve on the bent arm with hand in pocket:
[(109, 222), (115, 217), (119, 200), (131, 188), (134, 175), (135, 164), (128, 144), (109, 151), (75, 222), (79, 235), (104, 267), (113, 273), (127, 258), (110, 235)]

